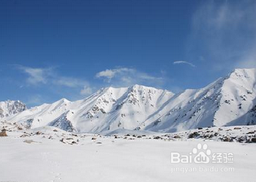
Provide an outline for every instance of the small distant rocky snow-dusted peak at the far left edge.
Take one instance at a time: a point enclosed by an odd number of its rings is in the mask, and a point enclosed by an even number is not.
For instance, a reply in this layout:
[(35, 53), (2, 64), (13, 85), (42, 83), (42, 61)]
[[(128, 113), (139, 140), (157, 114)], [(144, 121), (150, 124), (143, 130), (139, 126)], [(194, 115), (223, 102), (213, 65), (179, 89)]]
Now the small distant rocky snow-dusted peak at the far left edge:
[(0, 102), (0, 118), (12, 116), (26, 110), (26, 105), (20, 100), (7, 100)]

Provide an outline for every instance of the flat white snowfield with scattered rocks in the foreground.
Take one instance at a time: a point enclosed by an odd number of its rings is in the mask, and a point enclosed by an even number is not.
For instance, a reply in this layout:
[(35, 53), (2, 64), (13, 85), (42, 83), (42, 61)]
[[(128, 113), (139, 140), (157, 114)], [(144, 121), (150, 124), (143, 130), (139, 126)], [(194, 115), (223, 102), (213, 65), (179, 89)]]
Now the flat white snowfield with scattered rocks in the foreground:
[[(0, 137), (0, 181), (255, 181), (256, 145), (235, 141), (255, 138), (255, 126), (165, 134), (118, 130), (115, 135), (5, 127), (8, 136)], [(188, 139), (195, 131), (202, 137)], [(219, 135), (204, 138), (208, 131)], [(223, 135), (236, 139), (222, 142)], [(198, 143), (207, 143), (211, 152), (233, 153), (233, 163), (170, 162), (171, 152), (187, 155)]]

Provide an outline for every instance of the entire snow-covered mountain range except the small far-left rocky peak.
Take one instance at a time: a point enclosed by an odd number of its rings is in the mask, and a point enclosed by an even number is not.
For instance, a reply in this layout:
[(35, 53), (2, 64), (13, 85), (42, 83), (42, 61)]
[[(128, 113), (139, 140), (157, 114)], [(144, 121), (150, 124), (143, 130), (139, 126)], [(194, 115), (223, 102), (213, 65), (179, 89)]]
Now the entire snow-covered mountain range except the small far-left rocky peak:
[(176, 95), (140, 85), (108, 87), (84, 100), (61, 99), (4, 119), (31, 128), (50, 125), (72, 132), (176, 132), (214, 125), (255, 124), (255, 79), (256, 69), (236, 69), (203, 89)]

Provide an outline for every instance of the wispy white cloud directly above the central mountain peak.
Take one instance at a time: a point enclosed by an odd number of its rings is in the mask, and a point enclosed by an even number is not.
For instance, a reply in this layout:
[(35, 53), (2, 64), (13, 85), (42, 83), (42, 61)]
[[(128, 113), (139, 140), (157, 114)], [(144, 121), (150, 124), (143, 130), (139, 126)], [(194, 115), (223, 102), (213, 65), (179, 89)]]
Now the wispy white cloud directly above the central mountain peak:
[(152, 84), (159, 86), (165, 82), (165, 78), (149, 75), (135, 68), (113, 68), (100, 71), (96, 77), (103, 79), (108, 84), (116, 87), (129, 86), (132, 84)]

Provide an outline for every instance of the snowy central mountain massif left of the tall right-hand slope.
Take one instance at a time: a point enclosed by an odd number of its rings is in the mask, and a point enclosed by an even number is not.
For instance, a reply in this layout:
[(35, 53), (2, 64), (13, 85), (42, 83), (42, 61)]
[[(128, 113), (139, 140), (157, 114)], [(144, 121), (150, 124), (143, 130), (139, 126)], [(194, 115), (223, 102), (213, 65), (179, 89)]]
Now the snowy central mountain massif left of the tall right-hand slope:
[(167, 90), (140, 85), (108, 87), (84, 100), (70, 102), (61, 99), (6, 119), (32, 128), (50, 125), (77, 132), (101, 132), (118, 128), (140, 130), (140, 125), (148, 116), (154, 114), (173, 95)]

